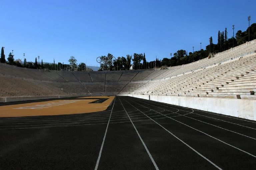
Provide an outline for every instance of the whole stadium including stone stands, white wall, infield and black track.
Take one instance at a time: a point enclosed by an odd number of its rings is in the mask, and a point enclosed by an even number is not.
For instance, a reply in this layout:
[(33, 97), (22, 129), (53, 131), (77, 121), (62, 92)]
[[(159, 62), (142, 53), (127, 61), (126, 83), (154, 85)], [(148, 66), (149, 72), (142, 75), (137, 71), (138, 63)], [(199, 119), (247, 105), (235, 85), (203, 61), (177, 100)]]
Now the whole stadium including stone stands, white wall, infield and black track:
[(256, 40), (167, 69), (0, 63), (0, 79), (1, 169), (256, 167)]

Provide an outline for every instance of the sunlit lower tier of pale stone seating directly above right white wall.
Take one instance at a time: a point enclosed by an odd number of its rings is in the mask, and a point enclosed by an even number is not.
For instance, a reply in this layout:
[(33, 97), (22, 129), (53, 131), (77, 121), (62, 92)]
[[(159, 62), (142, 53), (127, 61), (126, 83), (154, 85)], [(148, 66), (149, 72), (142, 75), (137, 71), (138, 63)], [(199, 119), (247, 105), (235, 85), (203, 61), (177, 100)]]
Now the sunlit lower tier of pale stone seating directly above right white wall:
[(256, 53), (173, 78), (151, 81), (134, 94), (256, 99)]

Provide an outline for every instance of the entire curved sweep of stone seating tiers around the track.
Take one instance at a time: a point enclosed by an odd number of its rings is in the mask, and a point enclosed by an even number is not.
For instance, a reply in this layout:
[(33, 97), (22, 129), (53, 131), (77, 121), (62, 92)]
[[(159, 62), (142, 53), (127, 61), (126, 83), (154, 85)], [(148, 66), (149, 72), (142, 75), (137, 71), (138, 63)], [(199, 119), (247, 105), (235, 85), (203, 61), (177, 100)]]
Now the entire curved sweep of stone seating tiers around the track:
[(53, 71), (0, 63), (0, 97), (143, 94), (255, 99), (256, 40), (167, 69)]

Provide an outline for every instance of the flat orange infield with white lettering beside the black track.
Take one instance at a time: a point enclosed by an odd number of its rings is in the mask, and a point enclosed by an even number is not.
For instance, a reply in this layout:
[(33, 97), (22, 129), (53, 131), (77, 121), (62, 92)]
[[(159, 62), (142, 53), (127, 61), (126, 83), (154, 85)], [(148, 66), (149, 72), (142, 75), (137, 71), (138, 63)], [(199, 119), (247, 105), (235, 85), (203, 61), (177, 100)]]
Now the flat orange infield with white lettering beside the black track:
[[(103, 98), (107, 100), (102, 103), (90, 103), (97, 102), (99, 99)], [(53, 100), (0, 106), (0, 117), (68, 115), (100, 112), (106, 110), (114, 98), (114, 96), (90, 96), (69, 100)]]

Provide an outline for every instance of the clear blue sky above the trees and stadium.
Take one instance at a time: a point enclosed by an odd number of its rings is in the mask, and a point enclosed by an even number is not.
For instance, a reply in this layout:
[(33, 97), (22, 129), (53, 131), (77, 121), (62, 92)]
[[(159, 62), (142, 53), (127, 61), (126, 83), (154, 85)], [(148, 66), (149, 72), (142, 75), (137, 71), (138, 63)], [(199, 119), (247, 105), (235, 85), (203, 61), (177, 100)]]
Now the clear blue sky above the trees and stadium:
[(218, 31), (228, 38), (256, 22), (255, 0), (2, 0), (0, 43), (8, 57), (40, 62), (98, 65), (96, 58), (133, 53), (147, 61), (179, 49), (188, 52), (217, 43)]

